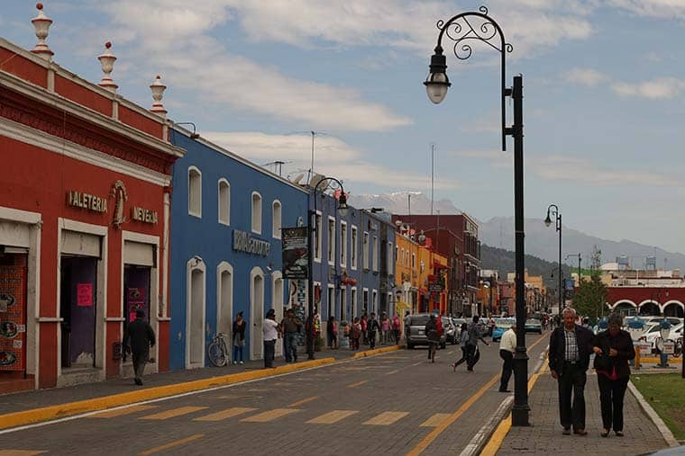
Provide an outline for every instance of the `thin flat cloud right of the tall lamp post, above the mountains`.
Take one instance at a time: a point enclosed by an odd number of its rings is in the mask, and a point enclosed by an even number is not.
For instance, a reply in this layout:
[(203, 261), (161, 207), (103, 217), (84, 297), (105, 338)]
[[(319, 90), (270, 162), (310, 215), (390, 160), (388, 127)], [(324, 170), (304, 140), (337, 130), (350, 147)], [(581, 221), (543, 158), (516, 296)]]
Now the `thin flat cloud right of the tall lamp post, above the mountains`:
[(535, 156), (526, 161), (530, 169), (544, 179), (572, 181), (594, 187), (681, 187), (683, 183), (669, 175), (646, 170), (602, 169), (587, 158), (576, 156)]

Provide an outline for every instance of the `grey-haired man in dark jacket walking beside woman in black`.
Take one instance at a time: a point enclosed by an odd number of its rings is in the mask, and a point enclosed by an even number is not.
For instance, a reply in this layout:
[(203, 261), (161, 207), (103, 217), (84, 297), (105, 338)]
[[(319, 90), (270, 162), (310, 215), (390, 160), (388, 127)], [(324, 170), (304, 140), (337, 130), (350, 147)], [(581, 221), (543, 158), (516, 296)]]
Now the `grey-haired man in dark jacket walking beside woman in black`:
[[(585, 430), (585, 383), (592, 353), (592, 338), (589, 329), (576, 325), (576, 311), (564, 308), (562, 326), (550, 336), (549, 363), (552, 378), (559, 381), (559, 416), (564, 435), (586, 435)], [(571, 394), (573, 396), (571, 406)]]

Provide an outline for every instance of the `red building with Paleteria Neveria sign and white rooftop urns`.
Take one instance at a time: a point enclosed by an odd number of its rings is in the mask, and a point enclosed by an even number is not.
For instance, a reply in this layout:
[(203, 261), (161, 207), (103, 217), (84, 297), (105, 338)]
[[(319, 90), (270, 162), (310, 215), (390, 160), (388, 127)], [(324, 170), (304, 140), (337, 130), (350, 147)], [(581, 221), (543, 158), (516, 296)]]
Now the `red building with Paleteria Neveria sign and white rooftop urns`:
[[(41, 8), (41, 5), (39, 4)], [(127, 375), (118, 343), (143, 308), (169, 365), (171, 165), (164, 86), (150, 112), (0, 39), (0, 392)], [(109, 48), (109, 46), (107, 47)]]

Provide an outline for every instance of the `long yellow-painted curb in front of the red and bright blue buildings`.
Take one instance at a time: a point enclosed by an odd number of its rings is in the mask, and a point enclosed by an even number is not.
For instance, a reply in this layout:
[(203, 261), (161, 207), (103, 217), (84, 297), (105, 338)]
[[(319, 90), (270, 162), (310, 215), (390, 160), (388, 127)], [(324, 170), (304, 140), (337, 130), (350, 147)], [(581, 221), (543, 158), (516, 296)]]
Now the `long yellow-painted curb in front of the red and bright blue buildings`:
[(66, 416), (73, 416), (86, 412), (94, 412), (112, 407), (125, 406), (134, 402), (142, 402), (145, 400), (166, 398), (168, 396), (197, 391), (200, 389), (230, 385), (232, 383), (240, 383), (242, 381), (264, 379), (292, 371), (300, 371), (323, 366), (325, 364), (332, 364), (335, 361), (335, 358), (322, 358), (320, 360), (298, 362), (297, 364), (286, 364), (275, 369), (262, 369), (260, 371), (233, 373), (220, 377), (211, 377), (209, 379), (184, 381), (182, 383), (176, 383), (172, 385), (140, 389), (128, 393), (104, 396), (102, 398), (79, 400), (77, 402), (59, 404), (57, 406), (23, 410), (21, 412), (0, 415), (0, 429), (17, 427), (21, 425), (30, 425), (32, 423), (49, 421), (55, 418), (64, 418)]

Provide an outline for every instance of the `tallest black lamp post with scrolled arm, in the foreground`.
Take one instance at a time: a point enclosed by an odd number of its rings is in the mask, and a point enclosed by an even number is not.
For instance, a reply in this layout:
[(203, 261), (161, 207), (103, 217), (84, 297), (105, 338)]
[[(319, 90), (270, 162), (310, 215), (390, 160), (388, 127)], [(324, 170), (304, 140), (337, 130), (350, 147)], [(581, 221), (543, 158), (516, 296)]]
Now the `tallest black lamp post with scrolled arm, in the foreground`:
[[(435, 53), (431, 57), (425, 88), (431, 102), (443, 101), (447, 89), (452, 85), (445, 70), (446, 58), (443, 55), (443, 37), (454, 41), (452, 50), (460, 60), (470, 58), (472, 49), (470, 41), (476, 40), (497, 50), (501, 58), (501, 110), (502, 110), (502, 150), (507, 150), (507, 136), (514, 138), (514, 212), (516, 231), (516, 353), (514, 354), (514, 408), (512, 425), (529, 425), (528, 423), (528, 355), (525, 349), (525, 289), (524, 289), (524, 109), (523, 109), (523, 76), (514, 76), (513, 87), (505, 86), (506, 52), (513, 46), (504, 39), (504, 32), (488, 15), (488, 8), (480, 6), (479, 11), (459, 13), (447, 22), (437, 22), (440, 30)], [(514, 124), (507, 127), (506, 98), (514, 101)]]

